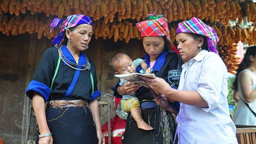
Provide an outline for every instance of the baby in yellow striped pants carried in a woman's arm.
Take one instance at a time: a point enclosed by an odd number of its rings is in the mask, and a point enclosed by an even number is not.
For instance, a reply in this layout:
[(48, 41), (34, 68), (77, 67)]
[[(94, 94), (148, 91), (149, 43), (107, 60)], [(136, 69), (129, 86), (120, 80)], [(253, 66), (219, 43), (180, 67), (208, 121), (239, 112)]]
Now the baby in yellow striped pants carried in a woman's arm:
[[(110, 66), (116, 71), (116, 74), (136, 73), (136, 68), (141, 67), (146, 73), (151, 73), (146, 62), (138, 58), (134, 61), (126, 53), (117, 53), (110, 59)], [(122, 86), (127, 81), (120, 79), (119, 85)], [(131, 112), (133, 119), (137, 122), (138, 128), (143, 130), (152, 130), (142, 118), (140, 102), (135, 96), (135, 92), (123, 95), (121, 106), (125, 112)]]

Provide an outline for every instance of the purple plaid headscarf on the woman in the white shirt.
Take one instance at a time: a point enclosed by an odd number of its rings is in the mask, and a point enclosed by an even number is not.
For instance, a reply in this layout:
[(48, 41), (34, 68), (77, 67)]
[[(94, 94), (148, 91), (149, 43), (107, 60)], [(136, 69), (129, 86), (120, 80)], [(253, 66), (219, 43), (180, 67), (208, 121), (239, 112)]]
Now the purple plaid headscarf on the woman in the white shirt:
[(207, 39), (208, 49), (217, 54), (215, 47), (219, 41), (217, 33), (212, 27), (203, 23), (203, 21), (201, 21), (199, 18), (193, 17), (190, 20), (180, 22), (175, 35), (180, 32), (194, 33), (205, 36)]

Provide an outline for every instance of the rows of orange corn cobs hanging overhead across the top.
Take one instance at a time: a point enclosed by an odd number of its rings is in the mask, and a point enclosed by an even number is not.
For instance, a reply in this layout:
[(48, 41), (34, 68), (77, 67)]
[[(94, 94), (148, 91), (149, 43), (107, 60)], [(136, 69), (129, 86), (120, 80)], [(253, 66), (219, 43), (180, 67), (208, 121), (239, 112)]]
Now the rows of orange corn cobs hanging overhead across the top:
[[(57, 34), (57, 30), (54, 34), (49, 34), (46, 24), (38, 24), (43, 19), (39, 19), (38, 13), (45, 13), (46, 19), (50, 16), (63, 18), (82, 13), (92, 17), (97, 24), (95, 38), (113, 38), (114, 41), (125, 39), (129, 42), (130, 39), (141, 39), (135, 23), (157, 10), (156, 14), (162, 14), (169, 23), (177, 21), (177, 24), (192, 17), (208, 21), (217, 31), (221, 44), (230, 45), (241, 40), (253, 45), (256, 38), (254, 26), (249, 30), (230, 27), (229, 24), (229, 20), (237, 18), (238, 23), (241, 23), (243, 9), (248, 21), (255, 24), (256, 3), (253, 1), (242, 4), (232, 0), (0, 0), (0, 31), (12, 35), (35, 32), (38, 33), (38, 38), (46, 36), (51, 39)], [(29, 13), (31, 24), (26, 22), (26, 15)], [(174, 42), (175, 26), (169, 29)]]

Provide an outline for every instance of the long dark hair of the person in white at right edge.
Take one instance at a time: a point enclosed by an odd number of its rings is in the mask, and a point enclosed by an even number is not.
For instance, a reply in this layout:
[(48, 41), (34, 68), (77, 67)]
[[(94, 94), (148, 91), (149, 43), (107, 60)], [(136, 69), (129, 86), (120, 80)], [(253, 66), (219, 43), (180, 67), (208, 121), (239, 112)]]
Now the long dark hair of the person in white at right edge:
[(249, 47), (246, 50), (243, 61), (238, 65), (236, 79), (233, 82), (232, 89), (238, 90), (238, 75), (242, 70), (248, 68), (251, 65), (252, 61), (250, 60), (250, 56), (256, 56), (256, 46)]

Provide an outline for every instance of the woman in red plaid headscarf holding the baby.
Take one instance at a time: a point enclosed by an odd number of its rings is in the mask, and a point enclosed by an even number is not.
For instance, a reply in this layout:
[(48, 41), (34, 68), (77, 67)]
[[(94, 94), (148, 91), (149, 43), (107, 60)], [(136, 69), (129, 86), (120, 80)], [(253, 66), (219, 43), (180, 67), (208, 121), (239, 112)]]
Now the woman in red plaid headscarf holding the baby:
[[(146, 55), (142, 58), (152, 68), (152, 73), (162, 77), (171, 87), (177, 88), (181, 72), (181, 59), (176, 54), (169, 38), (167, 19), (162, 15), (148, 15), (147, 19), (136, 24), (141, 33)], [(138, 68), (139, 72), (141, 68)], [(136, 91), (140, 101), (144, 121), (153, 127), (145, 131), (138, 128), (136, 121), (129, 114), (123, 136), (123, 144), (170, 144), (173, 142), (175, 122), (173, 115), (158, 106), (150, 89), (138, 84), (116, 85), (114, 96), (122, 97), (125, 93)], [(171, 102), (170, 102), (171, 103)], [(173, 113), (177, 111), (173, 110)]]

